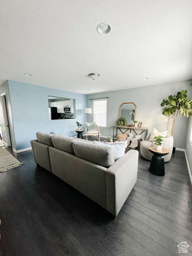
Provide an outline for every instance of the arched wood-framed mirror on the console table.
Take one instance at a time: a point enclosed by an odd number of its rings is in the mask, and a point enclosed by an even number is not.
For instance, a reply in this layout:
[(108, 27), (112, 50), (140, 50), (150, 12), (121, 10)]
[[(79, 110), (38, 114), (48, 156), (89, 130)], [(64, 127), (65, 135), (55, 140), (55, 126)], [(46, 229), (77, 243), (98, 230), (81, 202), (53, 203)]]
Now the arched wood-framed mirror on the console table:
[(122, 103), (119, 107), (119, 118), (124, 117), (127, 124), (134, 124), (136, 116), (136, 105), (133, 102)]

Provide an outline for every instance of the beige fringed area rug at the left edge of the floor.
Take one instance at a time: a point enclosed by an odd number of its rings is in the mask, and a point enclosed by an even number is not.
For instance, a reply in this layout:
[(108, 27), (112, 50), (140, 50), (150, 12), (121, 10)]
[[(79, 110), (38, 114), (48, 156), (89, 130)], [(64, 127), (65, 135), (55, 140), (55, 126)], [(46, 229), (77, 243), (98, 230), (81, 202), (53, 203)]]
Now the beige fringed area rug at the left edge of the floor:
[(0, 147), (0, 172), (6, 172), (22, 164), (24, 164), (24, 162), (20, 163), (6, 149)]

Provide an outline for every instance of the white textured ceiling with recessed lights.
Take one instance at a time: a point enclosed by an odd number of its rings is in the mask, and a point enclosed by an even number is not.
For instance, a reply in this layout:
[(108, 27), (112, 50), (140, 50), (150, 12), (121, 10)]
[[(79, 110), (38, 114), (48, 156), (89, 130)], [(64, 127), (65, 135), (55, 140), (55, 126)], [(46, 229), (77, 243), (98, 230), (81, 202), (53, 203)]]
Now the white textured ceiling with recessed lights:
[(1, 0), (0, 84), (90, 94), (191, 79), (191, 11), (191, 0)]

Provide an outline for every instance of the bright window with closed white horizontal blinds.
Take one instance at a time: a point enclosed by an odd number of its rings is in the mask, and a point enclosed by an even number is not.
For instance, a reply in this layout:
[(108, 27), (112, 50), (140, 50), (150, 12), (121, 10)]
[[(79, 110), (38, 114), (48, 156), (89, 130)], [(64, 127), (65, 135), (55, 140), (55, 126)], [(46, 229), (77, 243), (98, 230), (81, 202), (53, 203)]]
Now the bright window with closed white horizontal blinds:
[(107, 100), (93, 101), (93, 122), (98, 126), (107, 126)]

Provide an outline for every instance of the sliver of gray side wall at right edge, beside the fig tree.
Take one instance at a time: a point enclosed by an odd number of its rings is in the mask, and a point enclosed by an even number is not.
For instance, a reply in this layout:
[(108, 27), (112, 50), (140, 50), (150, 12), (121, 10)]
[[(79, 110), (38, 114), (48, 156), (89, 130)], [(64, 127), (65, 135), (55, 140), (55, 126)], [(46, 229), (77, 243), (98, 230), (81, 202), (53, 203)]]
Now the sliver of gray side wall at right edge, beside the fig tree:
[[(190, 84), (192, 83), (192, 80), (190, 81)], [(192, 87), (192, 86), (191, 86)], [(192, 88), (188, 90), (187, 98), (192, 99)], [(187, 140), (186, 140), (186, 155), (187, 160), (189, 163), (189, 168), (192, 175), (192, 144), (189, 141), (190, 140), (190, 133), (191, 133), (191, 126), (192, 126), (192, 116), (189, 117), (189, 124), (188, 124), (188, 130), (187, 130)]]

